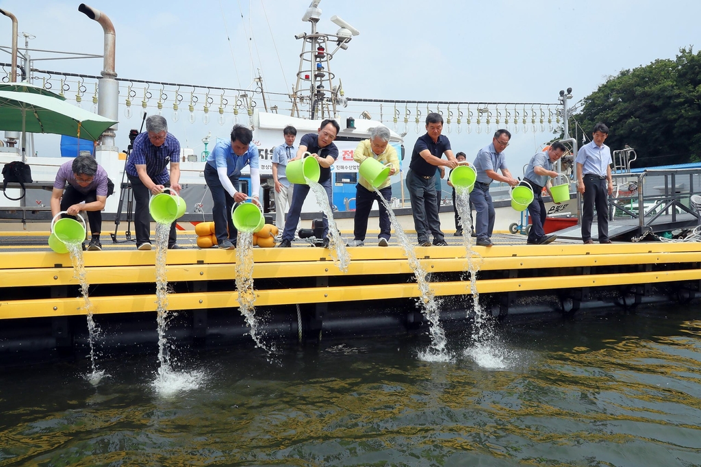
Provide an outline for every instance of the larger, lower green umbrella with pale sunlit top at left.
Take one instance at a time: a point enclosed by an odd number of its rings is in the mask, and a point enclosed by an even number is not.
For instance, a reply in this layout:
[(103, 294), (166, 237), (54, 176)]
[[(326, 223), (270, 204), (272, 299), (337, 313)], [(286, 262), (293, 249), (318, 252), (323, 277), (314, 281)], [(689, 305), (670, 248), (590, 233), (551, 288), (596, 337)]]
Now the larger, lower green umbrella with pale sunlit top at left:
[(0, 130), (53, 133), (97, 141), (115, 123), (69, 104), (53, 93), (0, 90)]

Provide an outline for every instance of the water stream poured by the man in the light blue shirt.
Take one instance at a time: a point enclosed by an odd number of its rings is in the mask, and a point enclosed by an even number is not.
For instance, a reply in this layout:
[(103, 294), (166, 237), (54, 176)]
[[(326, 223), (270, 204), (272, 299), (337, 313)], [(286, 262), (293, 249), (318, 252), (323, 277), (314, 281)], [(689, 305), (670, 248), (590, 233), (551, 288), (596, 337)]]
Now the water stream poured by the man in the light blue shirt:
[(256, 294), (253, 290), (253, 232), (238, 231), (236, 241), (236, 290), (238, 290), (238, 305), (241, 314), (250, 327), (251, 337), (257, 347), (261, 347), (268, 355), (275, 351), (274, 346), (266, 345), (263, 341), (265, 333), (258, 329), (254, 303)]

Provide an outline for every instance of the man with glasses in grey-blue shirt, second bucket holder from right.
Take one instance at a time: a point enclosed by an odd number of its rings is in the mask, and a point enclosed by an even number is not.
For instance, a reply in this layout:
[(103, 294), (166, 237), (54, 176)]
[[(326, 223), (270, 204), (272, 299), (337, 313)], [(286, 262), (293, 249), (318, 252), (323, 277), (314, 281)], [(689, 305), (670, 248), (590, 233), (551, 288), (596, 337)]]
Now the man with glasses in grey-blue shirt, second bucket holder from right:
[[(512, 177), (511, 172), (506, 168), (504, 149), (509, 145), (509, 140), (511, 140), (511, 133), (508, 130), (496, 130), (491, 144), (479, 149), (475, 158), (477, 181), (475, 189), (470, 192), (470, 203), (475, 206), (475, 233), (479, 246), (494, 245), (491, 242), (491, 234), (494, 232), (496, 212), (489, 194), (489, 185), (494, 180), (505, 182), (512, 187), (519, 184), (519, 181)], [(499, 175), (497, 170), (501, 170), (502, 175)]]

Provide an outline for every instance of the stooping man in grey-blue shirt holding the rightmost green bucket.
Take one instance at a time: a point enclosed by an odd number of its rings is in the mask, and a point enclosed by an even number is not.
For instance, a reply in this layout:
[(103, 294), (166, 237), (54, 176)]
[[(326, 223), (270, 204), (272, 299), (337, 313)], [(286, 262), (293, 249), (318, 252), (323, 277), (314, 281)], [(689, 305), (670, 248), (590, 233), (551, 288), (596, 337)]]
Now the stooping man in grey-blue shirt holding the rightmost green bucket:
[[(530, 185), (533, 190), (533, 201), (528, 206), (532, 226), (526, 242), (531, 245), (545, 245), (557, 238), (554, 235), (545, 235), (545, 231), (543, 231), (543, 224), (545, 224), (547, 215), (545, 203), (543, 203), (543, 188), (552, 196), (550, 193), (550, 187), (552, 187), (550, 179), (559, 175), (555, 170), (552, 170), (552, 164), (559, 161), (566, 150), (565, 145), (561, 142), (552, 143), (550, 149), (546, 149), (531, 157), (526, 172), (524, 172), (524, 182)], [(526, 184), (524, 186), (528, 186)]]

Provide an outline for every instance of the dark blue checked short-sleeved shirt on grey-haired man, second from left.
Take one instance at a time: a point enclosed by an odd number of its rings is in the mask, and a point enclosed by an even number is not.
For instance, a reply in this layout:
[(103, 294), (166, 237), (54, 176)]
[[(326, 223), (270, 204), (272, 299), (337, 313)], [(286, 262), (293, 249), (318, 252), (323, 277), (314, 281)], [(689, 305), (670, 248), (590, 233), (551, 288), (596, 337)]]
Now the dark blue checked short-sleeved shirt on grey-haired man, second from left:
[(166, 133), (161, 146), (154, 146), (149, 140), (149, 133), (139, 134), (134, 140), (126, 172), (132, 177), (138, 177), (137, 165), (146, 165), (146, 173), (157, 185), (170, 182), (168, 164), (180, 162), (180, 143), (170, 133)]

